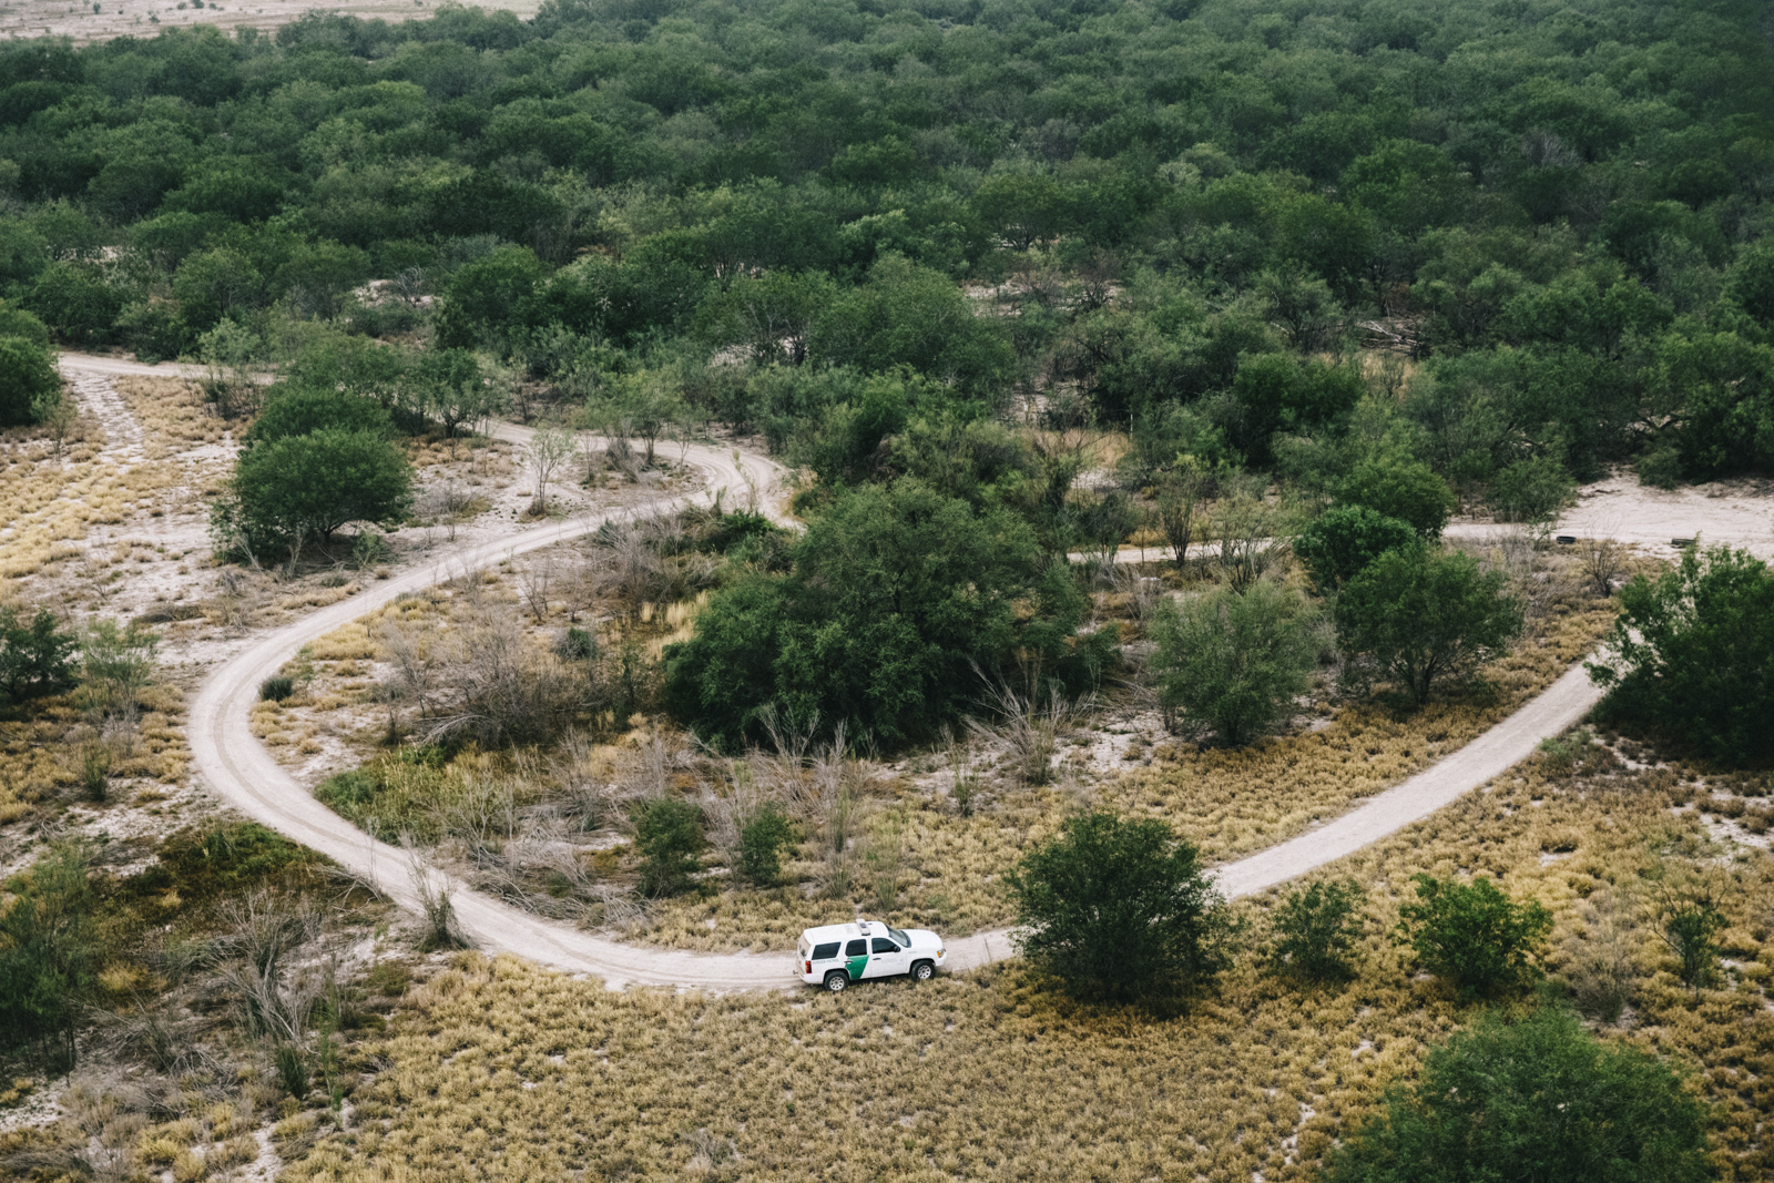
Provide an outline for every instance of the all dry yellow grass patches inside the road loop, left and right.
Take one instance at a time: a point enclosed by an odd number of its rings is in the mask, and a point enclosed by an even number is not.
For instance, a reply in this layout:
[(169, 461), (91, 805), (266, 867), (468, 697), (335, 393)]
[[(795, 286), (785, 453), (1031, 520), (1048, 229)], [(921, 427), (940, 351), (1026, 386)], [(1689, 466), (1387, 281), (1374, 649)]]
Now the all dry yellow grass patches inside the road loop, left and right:
[[(259, 734), (284, 752), (303, 752), (319, 715), (365, 706), (371, 683), (360, 663), (385, 660), (385, 621), (428, 624), (413, 630), (426, 656), (435, 639), (449, 637), (468, 599), (507, 605), (502, 610), (522, 615), (538, 644), (552, 640), (564, 623), (557, 610), (546, 624), (536, 624), (507, 571), (479, 573), (472, 589), (459, 580), (435, 587), (316, 642), (312, 688), (284, 708), (261, 704)], [(690, 612), (692, 605), (674, 605), (656, 614), (648, 626), (656, 633), (649, 633), (649, 647), (656, 651), (683, 635)], [(823, 835), (809, 825), (807, 841), (784, 867), (786, 887), (757, 890), (711, 880), (718, 892), (655, 901), (644, 921), (626, 924), (623, 933), (679, 949), (788, 949), (802, 928), (828, 922), (834, 912), (848, 915), (852, 908), (956, 935), (999, 926), (1009, 921), (1002, 873), (1084, 795), (1121, 812), (1171, 821), (1212, 860), (1261, 850), (1471, 741), (1588, 653), (1611, 619), (1605, 601), (1554, 592), (1536, 605), (1524, 642), (1487, 670), (1488, 692), (1437, 699), (1421, 711), (1394, 709), (1385, 699), (1355, 701), (1320, 720), (1318, 731), (1276, 736), (1244, 750), (1160, 745), (1151, 766), (1118, 779), (1095, 784), (1066, 779), (1048, 787), (1001, 784), (992, 803), (972, 818), (960, 816), (946, 793), (903, 777), (875, 777), (860, 798), (848, 885), (832, 885), (832, 867), (820, 848)], [(334, 725), (334, 731), (353, 729)], [(536, 775), (539, 764), (546, 761), (530, 761), (527, 775)], [(695, 768), (678, 787), (692, 798), (729, 789), (718, 763)], [(876, 834), (894, 821), (901, 823), (901, 834)], [(887, 857), (869, 862), (871, 851)], [(624, 866), (632, 873), (632, 855)]]

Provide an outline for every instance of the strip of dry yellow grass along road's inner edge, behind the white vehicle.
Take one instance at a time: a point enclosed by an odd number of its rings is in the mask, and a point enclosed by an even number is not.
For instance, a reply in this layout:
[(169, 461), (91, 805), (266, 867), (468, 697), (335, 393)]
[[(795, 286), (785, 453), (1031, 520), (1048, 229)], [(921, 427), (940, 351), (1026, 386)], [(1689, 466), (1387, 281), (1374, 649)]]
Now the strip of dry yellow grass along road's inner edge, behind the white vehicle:
[[(1474, 740), (1593, 649), (1611, 621), (1613, 608), (1604, 601), (1572, 601), (1565, 612), (1540, 617), (1524, 644), (1487, 670), (1495, 688), (1488, 704), (1471, 695), (1421, 711), (1355, 702), (1336, 711), (1322, 731), (1274, 736), (1242, 750), (1167, 747), (1150, 768), (1089, 789), (1091, 800), (1169, 821), (1210, 860), (1263, 850)], [(905, 866), (894, 876), (896, 906), (883, 906), (859, 869), (855, 892), (839, 901), (798, 889), (658, 901), (632, 936), (679, 949), (786, 949), (802, 928), (828, 924), (834, 912), (852, 905), (892, 924), (949, 933), (1004, 924), (1009, 912), (1001, 876), (1080, 800), (1082, 791), (1066, 786), (1013, 789), (1001, 793), (990, 811), (962, 818), (944, 796), (915, 793), (903, 782), (876, 784), (867, 809), (876, 818), (899, 812), (908, 827)], [(818, 874), (811, 860), (784, 871), (791, 883)]]

